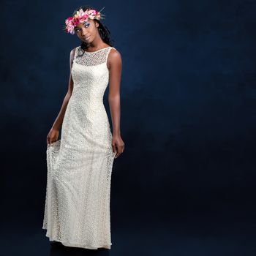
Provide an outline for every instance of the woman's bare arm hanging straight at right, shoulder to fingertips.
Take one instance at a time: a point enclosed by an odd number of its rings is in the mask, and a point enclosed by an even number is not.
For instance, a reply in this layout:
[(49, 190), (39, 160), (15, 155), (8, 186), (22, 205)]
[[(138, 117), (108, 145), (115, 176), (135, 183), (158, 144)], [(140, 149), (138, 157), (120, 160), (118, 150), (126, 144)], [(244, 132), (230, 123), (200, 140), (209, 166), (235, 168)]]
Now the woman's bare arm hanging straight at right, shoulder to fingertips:
[[(121, 104), (120, 104), (120, 83), (121, 83), (121, 69), (122, 61), (121, 54), (118, 50), (110, 50), (108, 56), (108, 69), (110, 72), (110, 89), (108, 94), (108, 102), (110, 105), (110, 113), (113, 127), (113, 152), (116, 152), (118, 157), (124, 151), (124, 141), (121, 139), (120, 118), (121, 118)], [(115, 157), (115, 158), (116, 158)]]

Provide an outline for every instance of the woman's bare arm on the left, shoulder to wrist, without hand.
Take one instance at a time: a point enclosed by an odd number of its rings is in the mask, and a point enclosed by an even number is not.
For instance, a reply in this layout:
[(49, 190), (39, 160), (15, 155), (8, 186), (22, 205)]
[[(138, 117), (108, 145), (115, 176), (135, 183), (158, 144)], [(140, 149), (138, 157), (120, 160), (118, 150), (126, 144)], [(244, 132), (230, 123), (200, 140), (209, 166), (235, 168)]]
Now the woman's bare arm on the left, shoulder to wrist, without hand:
[(63, 103), (61, 105), (61, 110), (59, 111), (59, 115), (57, 116), (56, 120), (53, 123), (53, 129), (59, 130), (61, 128), (61, 124), (63, 122), (64, 115), (67, 109), (67, 103), (69, 102), (69, 99), (72, 95), (74, 83), (71, 75), (71, 69), (72, 69), (74, 56), (75, 56), (75, 48), (70, 51), (70, 58), (69, 58), (70, 75), (69, 75), (69, 85), (68, 85), (67, 94), (64, 97)]

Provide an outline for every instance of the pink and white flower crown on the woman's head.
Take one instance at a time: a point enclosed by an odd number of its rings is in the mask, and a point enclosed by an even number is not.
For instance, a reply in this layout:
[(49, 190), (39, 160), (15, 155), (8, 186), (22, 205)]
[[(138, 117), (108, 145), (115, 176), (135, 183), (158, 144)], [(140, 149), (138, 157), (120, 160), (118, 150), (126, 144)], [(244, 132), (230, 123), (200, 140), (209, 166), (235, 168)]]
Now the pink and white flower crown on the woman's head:
[[(103, 7), (102, 10), (104, 8), (105, 7)], [(97, 10), (93, 10), (93, 9), (83, 11), (82, 7), (80, 7), (80, 10), (76, 11), (75, 15), (73, 15), (72, 17), (69, 17), (65, 20), (66, 26), (65, 26), (64, 30), (67, 33), (75, 34), (75, 26), (77, 24), (83, 23), (83, 22), (87, 21), (88, 19), (91, 19), (91, 20), (104, 19), (103, 18), (104, 15), (101, 13), (102, 10), (100, 10), (99, 12)]]

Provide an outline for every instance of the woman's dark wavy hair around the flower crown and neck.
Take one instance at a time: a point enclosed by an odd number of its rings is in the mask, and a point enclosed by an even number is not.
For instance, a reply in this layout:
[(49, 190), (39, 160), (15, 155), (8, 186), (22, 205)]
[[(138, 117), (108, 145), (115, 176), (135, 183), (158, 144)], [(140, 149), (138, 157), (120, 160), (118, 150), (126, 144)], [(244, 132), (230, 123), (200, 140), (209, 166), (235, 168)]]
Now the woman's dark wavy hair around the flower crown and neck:
[[(92, 7), (83, 5), (83, 6), (79, 7), (78, 9), (76, 9), (73, 12), (72, 16), (74, 16), (75, 13), (77, 11), (79, 11), (80, 9), (82, 9), (84, 12), (86, 10), (94, 10), (94, 8), (92, 8)], [(107, 26), (105, 26), (103, 23), (101, 23), (100, 20), (97, 20), (97, 19), (94, 19), (94, 20), (95, 20), (95, 22), (97, 22), (99, 24), (99, 26), (98, 26), (99, 36), (102, 38), (102, 41), (105, 42), (106, 44), (110, 45), (110, 46), (113, 46), (113, 44), (112, 44), (113, 40), (110, 40), (110, 31), (107, 28)], [(89, 47), (89, 45), (86, 44), (86, 42), (83, 42), (83, 41), (81, 41), (80, 46), (83, 50), (86, 50)]]

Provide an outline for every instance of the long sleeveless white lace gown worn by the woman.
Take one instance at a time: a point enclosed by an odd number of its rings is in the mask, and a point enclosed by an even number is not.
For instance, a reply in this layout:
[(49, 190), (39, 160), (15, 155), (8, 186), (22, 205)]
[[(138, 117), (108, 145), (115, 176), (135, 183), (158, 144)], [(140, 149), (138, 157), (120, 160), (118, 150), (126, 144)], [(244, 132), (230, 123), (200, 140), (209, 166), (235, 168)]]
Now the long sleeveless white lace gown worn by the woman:
[[(74, 87), (61, 139), (48, 144), (47, 189), (42, 228), (64, 246), (110, 249), (110, 180), (115, 153), (103, 105), (113, 47), (84, 52), (72, 64)], [(115, 49), (115, 48), (114, 48)], [(82, 55), (83, 54), (83, 55)]]

